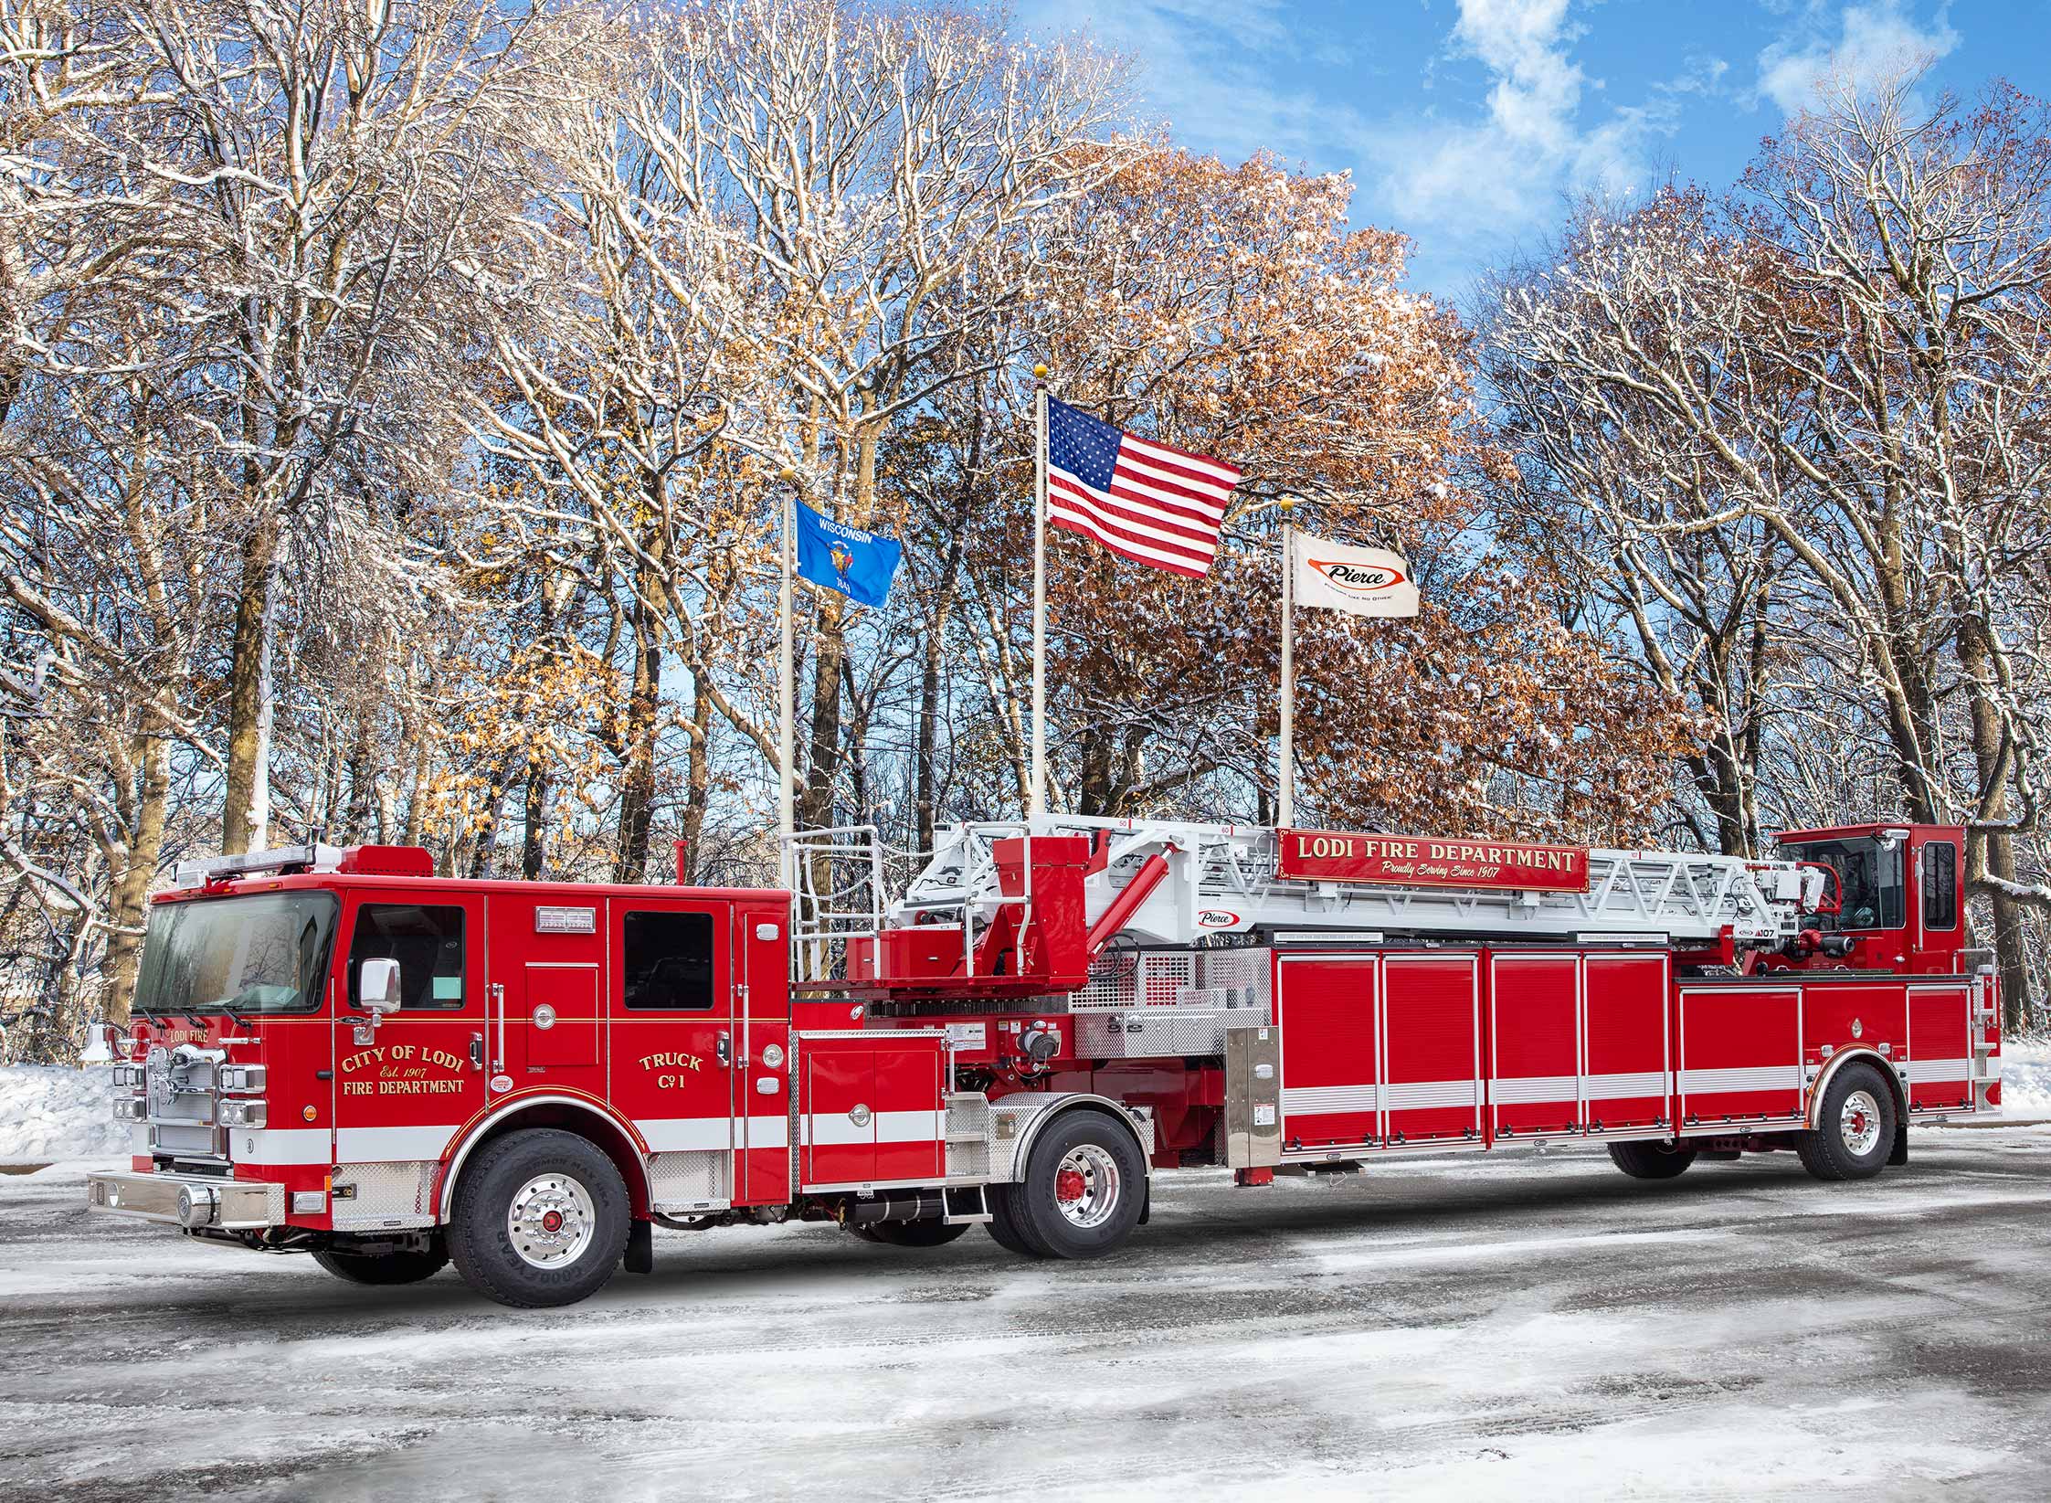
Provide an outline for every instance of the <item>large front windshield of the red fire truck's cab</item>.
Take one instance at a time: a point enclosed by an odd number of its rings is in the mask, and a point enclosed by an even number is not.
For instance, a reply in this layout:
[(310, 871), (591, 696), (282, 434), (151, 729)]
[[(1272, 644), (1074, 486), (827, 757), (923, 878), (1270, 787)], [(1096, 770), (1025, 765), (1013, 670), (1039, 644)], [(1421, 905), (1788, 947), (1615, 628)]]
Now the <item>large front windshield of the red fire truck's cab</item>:
[(166, 902), (150, 912), (137, 1013), (310, 1013), (334, 937), (332, 892)]

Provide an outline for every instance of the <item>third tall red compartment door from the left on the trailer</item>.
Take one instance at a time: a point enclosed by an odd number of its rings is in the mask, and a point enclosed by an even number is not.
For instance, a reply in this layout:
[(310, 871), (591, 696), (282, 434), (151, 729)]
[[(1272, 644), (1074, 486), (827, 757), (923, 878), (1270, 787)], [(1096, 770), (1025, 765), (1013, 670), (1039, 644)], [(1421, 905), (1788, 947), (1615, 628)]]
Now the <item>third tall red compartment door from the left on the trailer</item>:
[(1489, 1105), (1497, 1138), (1581, 1120), (1581, 974), (1571, 951), (1489, 958)]

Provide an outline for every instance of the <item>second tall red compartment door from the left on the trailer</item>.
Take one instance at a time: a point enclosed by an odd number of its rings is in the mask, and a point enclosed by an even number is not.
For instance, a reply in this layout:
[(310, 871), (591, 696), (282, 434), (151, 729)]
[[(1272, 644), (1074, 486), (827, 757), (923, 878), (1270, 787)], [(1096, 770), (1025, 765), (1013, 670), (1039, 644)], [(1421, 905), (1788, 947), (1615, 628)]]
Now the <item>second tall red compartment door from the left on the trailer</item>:
[(1382, 958), (1382, 1111), (1384, 1146), (1481, 1144), (1479, 956)]

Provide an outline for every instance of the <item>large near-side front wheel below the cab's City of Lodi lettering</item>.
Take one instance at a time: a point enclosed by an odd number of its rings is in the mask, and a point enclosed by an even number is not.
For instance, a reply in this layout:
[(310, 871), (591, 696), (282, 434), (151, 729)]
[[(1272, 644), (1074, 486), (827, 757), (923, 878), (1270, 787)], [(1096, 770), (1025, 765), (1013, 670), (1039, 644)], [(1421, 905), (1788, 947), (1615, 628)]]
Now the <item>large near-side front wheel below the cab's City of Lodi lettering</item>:
[(576, 1304), (613, 1275), (628, 1220), (628, 1187), (597, 1144), (529, 1128), (478, 1150), (455, 1187), (449, 1253), (500, 1304)]

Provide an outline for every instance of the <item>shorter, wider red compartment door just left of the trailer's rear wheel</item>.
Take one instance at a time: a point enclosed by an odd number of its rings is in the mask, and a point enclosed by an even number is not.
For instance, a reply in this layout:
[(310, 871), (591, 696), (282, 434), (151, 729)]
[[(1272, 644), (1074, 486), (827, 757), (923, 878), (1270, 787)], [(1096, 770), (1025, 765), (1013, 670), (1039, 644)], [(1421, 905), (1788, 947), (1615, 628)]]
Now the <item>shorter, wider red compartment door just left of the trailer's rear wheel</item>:
[(1799, 986), (1682, 986), (1682, 1132), (1786, 1124), (1801, 1095)]

